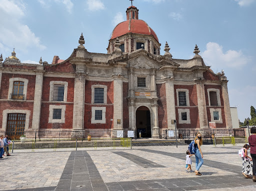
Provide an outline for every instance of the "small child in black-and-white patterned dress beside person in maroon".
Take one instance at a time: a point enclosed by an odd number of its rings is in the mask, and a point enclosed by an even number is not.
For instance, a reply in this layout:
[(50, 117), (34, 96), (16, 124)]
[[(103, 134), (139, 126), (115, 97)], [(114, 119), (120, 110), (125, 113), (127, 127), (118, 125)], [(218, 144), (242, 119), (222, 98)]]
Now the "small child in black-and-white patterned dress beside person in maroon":
[(245, 144), (243, 146), (243, 151), (244, 151), (244, 157), (242, 158), (242, 175), (246, 179), (252, 179), (250, 175), (252, 175), (252, 160), (248, 156), (247, 150), (250, 148), (249, 144)]

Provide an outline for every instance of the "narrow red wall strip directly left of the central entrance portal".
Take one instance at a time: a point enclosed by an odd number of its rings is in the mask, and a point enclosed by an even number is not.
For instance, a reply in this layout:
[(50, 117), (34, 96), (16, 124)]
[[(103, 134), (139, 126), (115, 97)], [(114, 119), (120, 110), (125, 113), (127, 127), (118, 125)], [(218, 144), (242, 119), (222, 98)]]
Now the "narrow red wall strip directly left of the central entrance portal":
[(122, 83), (122, 102), (123, 102), (123, 129), (128, 129), (129, 128), (129, 106), (128, 106), (128, 83), (123, 82)]

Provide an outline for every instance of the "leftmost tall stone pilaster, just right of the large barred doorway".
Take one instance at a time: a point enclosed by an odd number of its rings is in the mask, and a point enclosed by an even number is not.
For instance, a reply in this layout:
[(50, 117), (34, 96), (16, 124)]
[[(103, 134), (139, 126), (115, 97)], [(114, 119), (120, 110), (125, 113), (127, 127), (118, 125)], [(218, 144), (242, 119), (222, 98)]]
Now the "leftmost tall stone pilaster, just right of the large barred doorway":
[[(36, 69), (43, 70), (43, 66), (37, 66)], [(42, 84), (43, 72), (36, 72), (35, 87), (34, 87), (34, 105), (32, 116), (32, 129), (39, 129), (41, 116), (41, 102), (42, 102)]]

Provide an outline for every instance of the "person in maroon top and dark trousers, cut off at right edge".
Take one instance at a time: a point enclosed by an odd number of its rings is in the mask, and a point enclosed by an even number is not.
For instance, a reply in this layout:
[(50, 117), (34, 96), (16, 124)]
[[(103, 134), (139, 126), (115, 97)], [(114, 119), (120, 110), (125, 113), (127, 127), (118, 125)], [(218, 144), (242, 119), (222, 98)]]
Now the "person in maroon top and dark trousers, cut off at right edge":
[(256, 182), (256, 127), (250, 129), (251, 135), (248, 138), (250, 146), (250, 156), (252, 158), (252, 181)]

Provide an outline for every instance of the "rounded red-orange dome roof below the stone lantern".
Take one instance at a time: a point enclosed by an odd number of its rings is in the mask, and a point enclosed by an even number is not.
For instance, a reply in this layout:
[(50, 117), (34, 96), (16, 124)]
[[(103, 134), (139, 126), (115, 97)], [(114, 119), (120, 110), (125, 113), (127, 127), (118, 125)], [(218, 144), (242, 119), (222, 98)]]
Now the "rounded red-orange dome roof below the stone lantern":
[(154, 39), (159, 42), (152, 28), (150, 28), (144, 20), (139, 19), (129, 19), (117, 24), (112, 32), (111, 39), (122, 36), (128, 32), (136, 34), (151, 34)]

